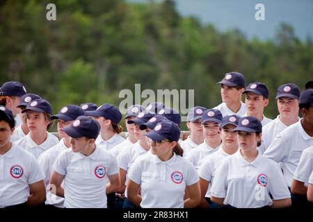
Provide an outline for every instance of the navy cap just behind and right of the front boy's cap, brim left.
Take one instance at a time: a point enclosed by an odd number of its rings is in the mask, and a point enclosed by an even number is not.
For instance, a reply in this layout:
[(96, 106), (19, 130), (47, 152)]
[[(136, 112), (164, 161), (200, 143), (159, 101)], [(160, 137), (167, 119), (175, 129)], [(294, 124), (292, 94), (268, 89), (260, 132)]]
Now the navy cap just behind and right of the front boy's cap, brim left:
[(110, 119), (113, 123), (119, 123), (122, 119), (122, 113), (114, 105), (104, 103), (94, 111), (86, 111), (86, 114), (91, 117), (104, 117)]

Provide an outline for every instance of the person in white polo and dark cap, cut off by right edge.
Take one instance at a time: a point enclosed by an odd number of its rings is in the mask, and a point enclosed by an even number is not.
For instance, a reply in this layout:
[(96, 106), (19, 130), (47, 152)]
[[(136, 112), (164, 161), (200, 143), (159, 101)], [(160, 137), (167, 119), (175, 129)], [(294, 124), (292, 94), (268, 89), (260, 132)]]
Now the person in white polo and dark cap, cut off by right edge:
[[(280, 163), (289, 188), (301, 154), (307, 147), (313, 146), (313, 89), (306, 89), (301, 93), (299, 108), (303, 118), (278, 133), (264, 152), (264, 157)], [(300, 207), (301, 198), (294, 194), (291, 198), (293, 207)]]

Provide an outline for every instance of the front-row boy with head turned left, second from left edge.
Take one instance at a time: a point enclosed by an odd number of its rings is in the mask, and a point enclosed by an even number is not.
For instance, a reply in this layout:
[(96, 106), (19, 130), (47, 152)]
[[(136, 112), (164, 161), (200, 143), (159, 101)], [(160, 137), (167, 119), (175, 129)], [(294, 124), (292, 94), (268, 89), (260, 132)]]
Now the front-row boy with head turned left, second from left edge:
[(99, 123), (82, 116), (63, 130), (71, 137), (72, 148), (56, 158), (51, 187), (55, 186), (57, 196), (65, 197), (66, 208), (106, 208), (106, 194), (118, 189), (120, 177), (115, 157), (95, 145)]

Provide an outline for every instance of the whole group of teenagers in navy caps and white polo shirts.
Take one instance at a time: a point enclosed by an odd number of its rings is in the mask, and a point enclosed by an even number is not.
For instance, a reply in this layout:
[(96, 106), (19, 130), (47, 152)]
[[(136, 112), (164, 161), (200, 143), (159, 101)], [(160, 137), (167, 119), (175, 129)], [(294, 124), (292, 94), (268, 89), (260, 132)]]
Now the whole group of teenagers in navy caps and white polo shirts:
[[(26, 94), (22, 83), (4, 83), (0, 207), (43, 201), (54, 207), (288, 207), (290, 190), (293, 206), (308, 207), (313, 89), (300, 96), (296, 85), (281, 85), (280, 114), (271, 121), (263, 114), (266, 85), (245, 90), (245, 78), (235, 72), (219, 84), (223, 103), (192, 108), (190, 135), (180, 141), (180, 115), (163, 103), (129, 107), (123, 139), (122, 114), (113, 105), (66, 105), (52, 115), (51, 105)], [(54, 119), (60, 141), (47, 132)], [(21, 148), (26, 152), (15, 152)]]

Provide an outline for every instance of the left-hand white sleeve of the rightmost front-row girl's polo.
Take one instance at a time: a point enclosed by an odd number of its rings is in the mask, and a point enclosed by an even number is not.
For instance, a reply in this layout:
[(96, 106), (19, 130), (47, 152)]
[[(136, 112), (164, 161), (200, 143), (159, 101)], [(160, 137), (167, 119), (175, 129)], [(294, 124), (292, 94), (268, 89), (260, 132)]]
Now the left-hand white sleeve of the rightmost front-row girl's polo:
[(211, 196), (215, 196), (216, 198), (225, 198), (227, 192), (228, 169), (225, 160), (222, 160), (218, 164), (218, 167), (216, 167), (215, 177), (211, 184)]

